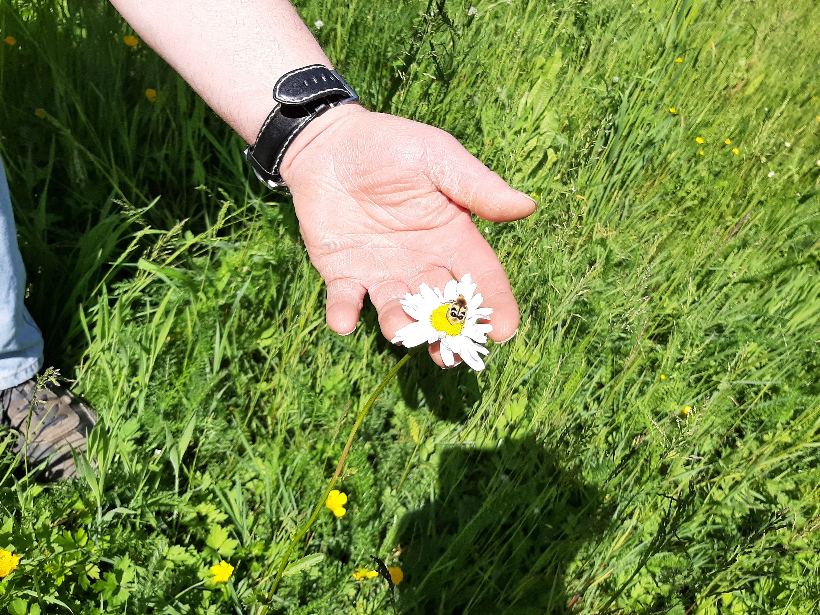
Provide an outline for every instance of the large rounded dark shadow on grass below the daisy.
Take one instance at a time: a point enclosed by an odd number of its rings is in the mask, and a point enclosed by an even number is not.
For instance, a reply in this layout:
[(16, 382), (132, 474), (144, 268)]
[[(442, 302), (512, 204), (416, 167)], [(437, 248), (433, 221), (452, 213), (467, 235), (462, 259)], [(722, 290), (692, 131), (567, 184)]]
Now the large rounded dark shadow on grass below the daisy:
[(440, 451), (435, 496), (403, 523), (401, 613), (564, 613), (563, 577), (603, 501), (534, 439)]

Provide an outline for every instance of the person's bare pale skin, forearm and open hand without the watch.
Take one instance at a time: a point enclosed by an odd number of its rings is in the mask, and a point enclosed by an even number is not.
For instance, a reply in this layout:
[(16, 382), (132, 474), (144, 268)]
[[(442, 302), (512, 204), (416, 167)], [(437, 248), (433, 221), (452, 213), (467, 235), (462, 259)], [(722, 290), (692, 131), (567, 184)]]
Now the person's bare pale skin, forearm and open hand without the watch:
[[(274, 105), (287, 71), (332, 68), (287, 0), (112, 0), (139, 37), (188, 81), (248, 143)], [(356, 84), (352, 84), (353, 88)], [(281, 175), (311, 261), (326, 281), (331, 330), (356, 329), (365, 294), (387, 339), (412, 319), (399, 299), (471, 274), (492, 307), (490, 339), (518, 327), (518, 305), (503, 267), (471, 213), (519, 220), (535, 201), (429, 125), (336, 107), (289, 147)], [(430, 356), (440, 366), (439, 344)]]

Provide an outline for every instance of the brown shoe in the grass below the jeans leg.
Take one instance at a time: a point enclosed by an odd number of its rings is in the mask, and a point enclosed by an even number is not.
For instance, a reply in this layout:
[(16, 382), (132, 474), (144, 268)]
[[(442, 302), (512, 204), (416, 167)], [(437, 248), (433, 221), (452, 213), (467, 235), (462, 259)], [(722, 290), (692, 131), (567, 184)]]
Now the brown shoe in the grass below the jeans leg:
[[(37, 399), (34, 404), (32, 398)], [(0, 391), (0, 423), (21, 434), (14, 452), (25, 449), (30, 468), (48, 461), (43, 470), (46, 481), (77, 476), (71, 447), (85, 452), (86, 436), (96, 422), (88, 404), (65, 387), (46, 382), (37, 390), (37, 376)]]

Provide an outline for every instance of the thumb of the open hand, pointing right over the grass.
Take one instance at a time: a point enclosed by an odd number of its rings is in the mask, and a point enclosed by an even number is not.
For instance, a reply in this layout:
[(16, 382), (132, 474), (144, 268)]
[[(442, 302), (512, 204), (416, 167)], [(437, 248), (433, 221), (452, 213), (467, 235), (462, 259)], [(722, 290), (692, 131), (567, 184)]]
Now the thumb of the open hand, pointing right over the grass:
[(440, 134), (437, 147), (427, 152), (430, 180), (450, 200), (491, 222), (526, 218), (535, 212), (535, 199), (509, 187), (452, 134)]

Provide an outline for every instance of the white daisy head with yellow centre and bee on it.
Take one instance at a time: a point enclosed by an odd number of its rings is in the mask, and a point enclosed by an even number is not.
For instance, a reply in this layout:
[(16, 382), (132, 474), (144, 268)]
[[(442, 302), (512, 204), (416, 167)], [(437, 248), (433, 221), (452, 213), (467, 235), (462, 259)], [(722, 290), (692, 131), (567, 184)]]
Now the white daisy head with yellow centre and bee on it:
[(490, 351), (480, 344), (486, 343), (486, 334), (493, 326), (479, 323), (478, 319), (489, 320), (493, 309), (481, 307), (484, 298), (476, 294), (476, 287), (470, 274), (466, 274), (460, 282), (450, 280), (444, 293), (422, 284), (420, 294), (406, 294), (399, 303), (417, 322), (403, 326), (390, 341), (408, 348), (440, 341), (444, 365), (455, 365), (453, 354), (458, 354), (474, 370), (483, 370), (484, 362), (478, 355), (486, 356)]

